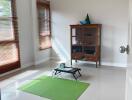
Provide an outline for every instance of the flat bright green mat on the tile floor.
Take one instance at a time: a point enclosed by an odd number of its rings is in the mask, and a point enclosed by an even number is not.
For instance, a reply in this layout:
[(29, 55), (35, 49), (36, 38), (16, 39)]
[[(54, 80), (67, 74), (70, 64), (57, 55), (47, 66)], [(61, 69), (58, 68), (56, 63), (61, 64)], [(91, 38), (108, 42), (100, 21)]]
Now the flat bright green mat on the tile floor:
[(88, 86), (88, 83), (79, 81), (41, 76), (19, 90), (51, 100), (77, 100)]

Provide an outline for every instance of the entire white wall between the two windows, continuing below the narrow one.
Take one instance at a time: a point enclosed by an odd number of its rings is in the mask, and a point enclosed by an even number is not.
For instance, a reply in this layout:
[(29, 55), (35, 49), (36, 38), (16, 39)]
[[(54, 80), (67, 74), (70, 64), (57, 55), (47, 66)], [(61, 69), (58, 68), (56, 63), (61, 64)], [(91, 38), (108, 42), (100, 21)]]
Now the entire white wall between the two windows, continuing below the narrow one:
[(49, 59), (50, 50), (39, 51), (36, 1), (16, 0), (16, 3), (21, 67), (24, 68)]

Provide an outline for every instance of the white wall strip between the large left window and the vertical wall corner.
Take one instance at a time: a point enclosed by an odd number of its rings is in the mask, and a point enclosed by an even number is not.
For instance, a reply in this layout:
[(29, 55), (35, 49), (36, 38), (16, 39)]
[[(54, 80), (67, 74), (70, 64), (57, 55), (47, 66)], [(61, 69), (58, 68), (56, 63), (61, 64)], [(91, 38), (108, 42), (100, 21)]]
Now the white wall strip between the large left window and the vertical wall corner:
[(34, 64), (30, 0), (16, 0), (21, 67)]

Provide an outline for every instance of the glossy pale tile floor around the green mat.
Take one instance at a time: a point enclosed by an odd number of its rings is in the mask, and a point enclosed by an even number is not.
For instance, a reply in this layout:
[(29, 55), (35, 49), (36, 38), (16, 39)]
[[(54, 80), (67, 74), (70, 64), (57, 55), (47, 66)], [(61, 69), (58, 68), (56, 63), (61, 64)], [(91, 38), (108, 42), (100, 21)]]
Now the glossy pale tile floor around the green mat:
[[(48, 100), (19, 91), (17, 88), (40, 75), (52, 75), (56, 65), (57, 62), (48, 61), (10, 74), (7, 79), (1, 79), (1, 100)], [(79, 80), (91, 84), (78, 100), (125, 100), (125, 69), (106, 66), (95, 68), (95, 65), (88, 63), (79, 63), (78, 67), (82, 69), (82, 77)], [(58, 77), (73, 79), (70, 74), (61, 74)]]

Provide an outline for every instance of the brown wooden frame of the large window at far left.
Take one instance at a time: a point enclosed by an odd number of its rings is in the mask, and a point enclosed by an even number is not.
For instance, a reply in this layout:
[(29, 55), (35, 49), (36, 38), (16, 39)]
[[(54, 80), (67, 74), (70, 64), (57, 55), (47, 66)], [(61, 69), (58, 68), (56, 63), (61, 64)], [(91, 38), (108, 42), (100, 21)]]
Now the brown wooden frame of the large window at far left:
[(0, 20), (2, 20), (2, 18), (5, 19), (11, 19), (12, 20), (12, 28), (13, 28), (13, 34), (14, 34), (14, 39), (13, 40), (3, 40), (0, 41), (0, 43), (14, 43), (16, 45), (17, 48), (17, 57), (18, 57), (18, 61), (16, 62), (12, 62), (12, 63), (8, 63), (5, 65), (0, 66), (0, 74), (6, 73), (8, 71), (17, 69), (21, 67), (21, 63), (20, 63), (20, 48), (19, 48), (19, 34), (18, 34), (18, 22), (17, 22), (17, 10), (16, 10), (16, 0), (10, 0), (11, 1), (11, 13), (12, 16), (9, 17), (0, 17)]

